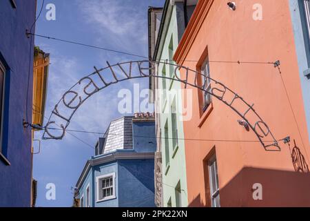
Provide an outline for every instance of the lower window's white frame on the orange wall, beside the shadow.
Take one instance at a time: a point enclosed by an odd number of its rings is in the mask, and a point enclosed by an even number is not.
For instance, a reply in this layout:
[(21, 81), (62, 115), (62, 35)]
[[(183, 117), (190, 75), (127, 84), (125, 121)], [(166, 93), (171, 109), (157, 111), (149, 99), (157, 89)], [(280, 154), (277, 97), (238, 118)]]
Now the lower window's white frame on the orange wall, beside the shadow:
[[(215, 167), (212, 167), (212, 164), (215, 164)], [(220, 207), (220, 187), (218, 183), (218, 164), (216, 160), (216, 155), (214, 154), (209, 160), (208, 160), (208, 169), (209, 169), (209, 186), (210, 186), (210, 193), (211, 193), (211, 206), (212, 207)], [(212, 174), (214, 174), (215, 177), (215, 185), (213, 185), (212, 181)], [(213, 189), (213, 186), (216, 186), (216, 189)], [(214, 204), (214, 199), (218, 197), (219, 198), (219, 204)]]

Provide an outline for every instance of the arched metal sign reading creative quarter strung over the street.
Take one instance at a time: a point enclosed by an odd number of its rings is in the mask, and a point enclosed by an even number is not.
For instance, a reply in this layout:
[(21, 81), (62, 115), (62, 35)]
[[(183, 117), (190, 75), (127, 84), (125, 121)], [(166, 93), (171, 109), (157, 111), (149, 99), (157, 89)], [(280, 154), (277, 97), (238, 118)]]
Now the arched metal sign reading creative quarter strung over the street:
[[(166, 77), (158, 74), (158, 66), (161, 64), (169, 65), (174, 68), (173, 76)], [(180, 70), (183, 70), (185, 75), (181, 77)], [(194, 75), (190, 77), (189, 75)], [(191, 70), (185, 66), (176, 64), (168, 64), (161, 61), (128, 61), (115, 65), (110, 65), (107, 62), (107, 67), (97, 69), (94, 67), (94, 72), (86, 77), (81, 78), (72, 88), (67, 90), (59, 102), (55, 105), (48, 123), (45, 125), (43, 139), (61, 140), (65, 135), (65, 130), (68, 128), (72, 116), (77, 109), (92, 95), (99, 92), (103, 88), (107, 88), (119, 81), (128, 79), (136, 79), (143, 77), (161, 77), (164, 79), (172, 79), (180, 81), (182, 84), (198, 88), (199, 90), (209, 93), (216, 97), (225, 105), (235, 111), (258, 137), (258, 140), (267, 151), (280, 151), (280, 146), (277, 140), (271, 133), (267, 124), (262, 120), (260, 115), (256, 113), (254, 104), (249, 104), (233, 90), (229, 89), (224, 84), (207, 77), (196, 70)], [(209, 79), (209, 86), (198, 84), (199, 77)], [(191, 80), (193, 79), (193, 80)], [(205, 81), (206, 82), (206, 81)], [(238, 103), (238, 105), (236, 105)], [(248, 116), (251, 116), (249, 119)], [(50, 128), (53, 126), (53, 128)], [(56, 130), (55, 130), (56, 128)], [(52, 133), (53, 131), (53, 133)], [(60, 133), (59, 133), (60, 131)]]

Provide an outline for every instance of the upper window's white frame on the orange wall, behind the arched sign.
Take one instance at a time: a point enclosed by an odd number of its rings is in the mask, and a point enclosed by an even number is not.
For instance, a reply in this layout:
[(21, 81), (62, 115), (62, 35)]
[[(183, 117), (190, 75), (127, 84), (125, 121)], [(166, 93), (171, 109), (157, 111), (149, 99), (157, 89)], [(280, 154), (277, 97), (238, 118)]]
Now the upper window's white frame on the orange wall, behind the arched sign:
[[(210, 91), (211, 90), (211, 80), (210, 77), (210, 67), (209, 67), (209, 57), (203, 61), (201, 66), (201, 84), (203, 89)], [(203, 111), (206, 111), (209, 105), (212, 102), (212, 97), (209, 93), (203, 91)]]

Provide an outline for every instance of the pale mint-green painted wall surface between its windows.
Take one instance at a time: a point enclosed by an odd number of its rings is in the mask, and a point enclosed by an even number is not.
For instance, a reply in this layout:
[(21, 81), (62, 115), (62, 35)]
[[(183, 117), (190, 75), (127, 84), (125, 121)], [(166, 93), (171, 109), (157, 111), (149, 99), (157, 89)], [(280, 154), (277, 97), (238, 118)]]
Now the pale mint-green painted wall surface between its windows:
[[(173, 7), (171, 19), (166, 21), (169, 26), (167, 28), (167, 33), (162, 36), (161, 40), (164, 41), (163, 50), (158, 51), (158, 57), (156, 60), (162, 59), (171, 59), (176, 51), (178, 42), (183, 33), (180, 33), (180, 26), (184, 27), (184, 23), (178, 23), (176, 6)], [(169, 16), (168, 16), (169, 17)], [(180, 21), (179, 21), (180, 22)], [(184, 28), (183, 28), (184, 31)], [(171, 44), (172, 43), (172, 44)], [(169, 52), (170, 46), (170, 52)], [(172, 46), (172, 47), (171, 47)], [(172, 50), (171, 50), (172, 49)], [(173, 61), (169, 61), (173, 62)], [(165, 66), (165, 67), (164, 67)], [(158, 73), (163, 75), (163, 70), (165, 70), (166, 76), (173, 75), (172, 70), (169, 68), (169, 65), (161, 64), (158, 66)], [(182, 110), (182, 97), (180, 94), (180, 82), (173, 81), (169, 79), (158, 78), (158, 89), (163, 89), (163, 81), (166, 81), (167, 95), (161, 95), (156, 93), (156, 102), (160, 103), (157, 113), (159, 113), (159, 122), (158, 126), (161, 128), (161, 153), (162, 153), (162, 171), (163, 171), (163, 206), (167, 206), (168, 201), (171, 200), (172, 206), (176, 206), (176, 191), (175, 188), (180, 182), (181, 191), (181, 206), (187, 206), (187, 180), (186, 180), (186, 162), (185, 162), (185, 144), (184, 132), (183, 132), (183, 122), (182, 115), (180, 115)], [(174, 93), (176, 92), (176, 93)], [(171, 95), (171, 96), (169, 96)], [(169, 97), (169, 98), (168, 98)], [(177, 147), (173, 146), (174, 142), (172, 139), (167, 139), (167, 146), (165, 145), (165, 124), (168, 124), (168, 133), (167, 137), (174, 137), (172, 133), (172, 103), (176, 102), (176, 128), (178, 130), (178, 145)], [(157, 106), (157, 105), (156, 105)], [(169, 148), (169, 155), (166, 155), (165, 148)], [(169, 164), (166, 164), (166, 158), (169, 159)]]

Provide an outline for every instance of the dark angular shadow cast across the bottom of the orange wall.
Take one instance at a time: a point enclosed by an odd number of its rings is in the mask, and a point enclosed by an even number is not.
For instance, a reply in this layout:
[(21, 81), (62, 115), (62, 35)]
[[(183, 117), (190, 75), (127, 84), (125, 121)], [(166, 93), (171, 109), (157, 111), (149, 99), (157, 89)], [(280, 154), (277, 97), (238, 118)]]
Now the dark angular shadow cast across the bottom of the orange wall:
[[(254, 200), (261, 186), (261, 200)], [(246, 167), (220, 189), (221, 206), (310, 206), (310, 175)]]

